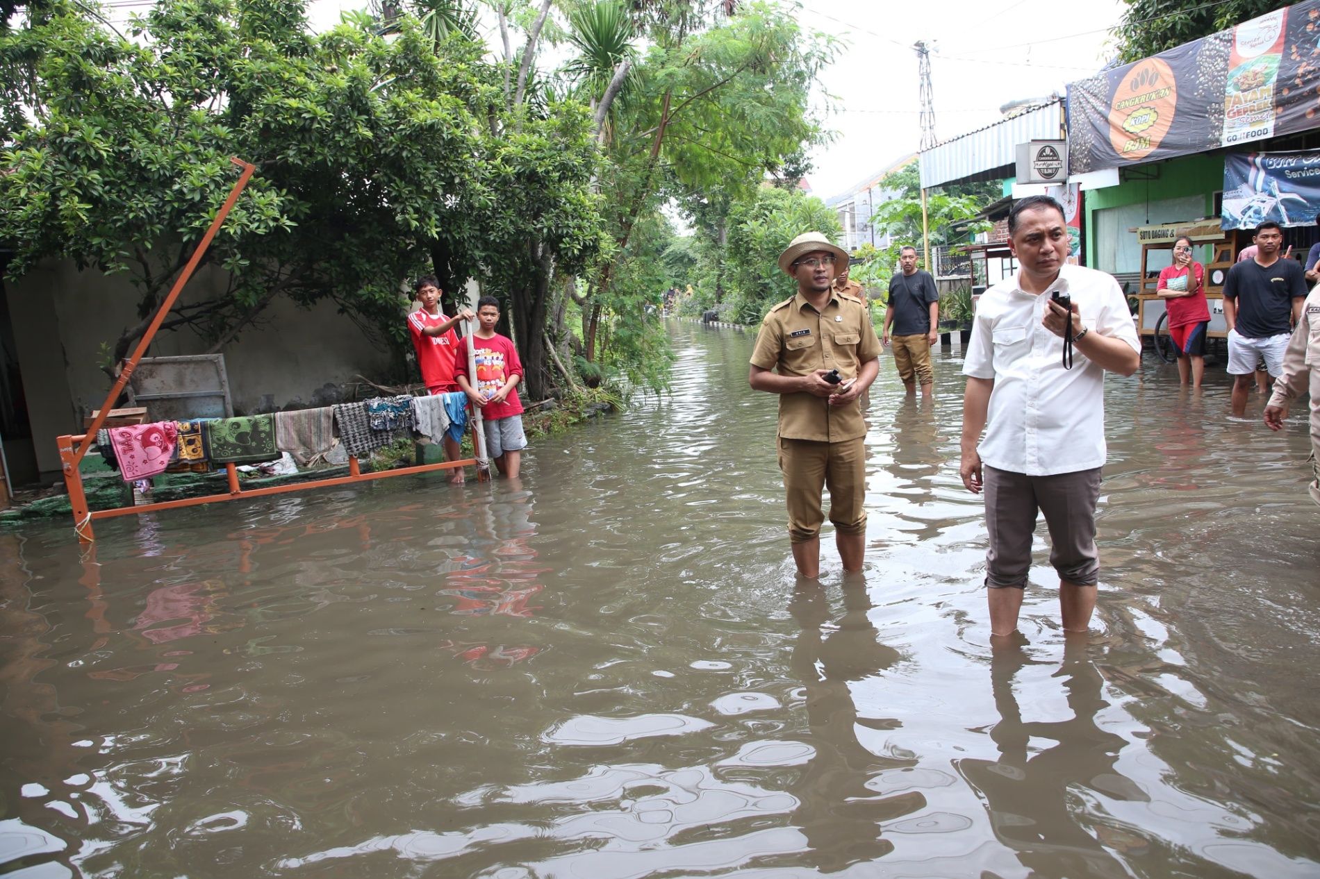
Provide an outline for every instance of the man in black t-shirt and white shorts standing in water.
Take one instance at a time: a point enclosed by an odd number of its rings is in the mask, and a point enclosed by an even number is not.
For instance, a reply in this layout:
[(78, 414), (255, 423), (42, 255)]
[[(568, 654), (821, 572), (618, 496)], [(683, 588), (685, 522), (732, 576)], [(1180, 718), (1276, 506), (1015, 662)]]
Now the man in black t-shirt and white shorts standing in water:
[(1257, 358), (1265, 358), (1270, 377), (1278, 379), (1292, 325), (1302, 317), (1307, 280), (1302, 267), (1279, 257), (1283, 228), (1272, 220), (1255, 230), (1255, 259), (1238, 263), (1224, 281), (1224, 322), (1229, 327), (1229, 374), (1233, 376), (1233, 414), (1246, 414), (1246, 397)]

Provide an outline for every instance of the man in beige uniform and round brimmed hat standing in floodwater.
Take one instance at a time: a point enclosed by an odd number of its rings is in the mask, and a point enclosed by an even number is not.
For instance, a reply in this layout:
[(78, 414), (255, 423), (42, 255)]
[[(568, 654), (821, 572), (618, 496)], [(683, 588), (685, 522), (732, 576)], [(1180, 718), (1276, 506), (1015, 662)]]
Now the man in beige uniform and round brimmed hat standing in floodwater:
[[(820, 575), (821, 491), (843, 570), (862, 569), (866, 552), (866, 422), (858, 397), (879, 371), (880, 341), (866, 304), (834, 289), (847, 253), (820, 232), (792, 240), (779, 268), (797, 293), (760, 323), (747, 381), (779, 395), (779, 469), (788, 496), (788, 538), (803, 577)], [(772, 372), (774, 370), (774, 372)], [(838, 384), (829, 381), (837, 370)]]

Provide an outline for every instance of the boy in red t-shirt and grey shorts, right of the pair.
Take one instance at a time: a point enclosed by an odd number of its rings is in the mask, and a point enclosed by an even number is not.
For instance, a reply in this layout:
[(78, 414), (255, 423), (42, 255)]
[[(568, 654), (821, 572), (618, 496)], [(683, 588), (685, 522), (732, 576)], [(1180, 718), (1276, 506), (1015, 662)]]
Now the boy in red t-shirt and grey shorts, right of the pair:
[(499, 301), (494, 296), (477, 300), (477, 387), (467, 375), (467, 360), (458, 359), (454, 379), (473, 405), (482, 410), (486, 432), (486, 451), (495, 459), (499, 471), (515, 479), (527, 447), (523, 433), (523, 403), (517, 399), (517, 383), (523, 380), (523, 362), (512, 339), (495, 331), (499, 323)]

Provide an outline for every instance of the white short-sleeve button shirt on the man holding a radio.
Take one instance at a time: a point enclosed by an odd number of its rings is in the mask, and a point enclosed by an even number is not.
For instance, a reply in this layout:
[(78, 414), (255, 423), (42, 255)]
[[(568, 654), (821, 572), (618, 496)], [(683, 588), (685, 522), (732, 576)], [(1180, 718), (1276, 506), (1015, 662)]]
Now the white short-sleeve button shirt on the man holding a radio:
[(994, 379), (982, 463), (1031, 476), (1090, 470), (1105, 463), (1105, 371), (1081, 351), (1063, 366), (1064, 341), (1041, 326), (1055, 290), (1068, 293), (1092, 333), (1140, 352), (1127, 298), (1104, 272), (1064, 265), (1044, 293), (1027, 293), (1020, 275), (995, 284), (977, 304), (962, 374)]

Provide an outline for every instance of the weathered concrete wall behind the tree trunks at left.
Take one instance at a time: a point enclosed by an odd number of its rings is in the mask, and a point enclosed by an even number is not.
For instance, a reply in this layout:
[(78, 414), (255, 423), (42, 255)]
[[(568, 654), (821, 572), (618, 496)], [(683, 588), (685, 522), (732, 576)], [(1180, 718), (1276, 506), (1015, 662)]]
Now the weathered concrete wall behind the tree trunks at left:
[[(197, 301), (224, 289), (219, 269), (203, 269), (182, 298)], [(121, 275), (79, 272), (67, 260), (42, 264), (5, 284), (22, 364), (24, 392), (41, 471), (58, 471), (54, 438), (82, 430), (84, 413), (99, 408), (110, 380), (98, 363), (102, 343), (114, 346), (137, 323), (136, 289)], [(400, 305), (403, 321), (403, 305)], [(161, 333), (149, 356), (203, 354), (207, 343), (190, 330)], [(367, 341), (331, 304), (300, 309), (280, 298), (257, 326), (223, 351), (235, 412), (267, 412), (289, 404), (322, 405), (325, 385), (363, 375), (385, 377), (391, 355)]]

